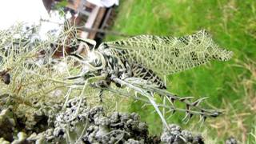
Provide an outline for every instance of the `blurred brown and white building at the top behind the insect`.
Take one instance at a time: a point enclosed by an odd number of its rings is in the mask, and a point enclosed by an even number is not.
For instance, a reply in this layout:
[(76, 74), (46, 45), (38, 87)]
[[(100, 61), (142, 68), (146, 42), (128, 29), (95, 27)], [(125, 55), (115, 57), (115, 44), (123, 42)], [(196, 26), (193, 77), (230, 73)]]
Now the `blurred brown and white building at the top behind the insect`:
[[(104, 7), (93, 4), (86, 0), (42, 0), (48, 13), (59, 3), (65, 3), (64, 11), (72, 15), (70, 22), (78, 26), (81, 38), (90, 38), (101, 41), (104, 37), (104, 30), (113, 24), (114, 7)], [(114, 0), (113, 4), (118, 3)], [(109, 3), (108, 3), (109, 4)], [(109, 5), (110, 6), (110, 5)]]

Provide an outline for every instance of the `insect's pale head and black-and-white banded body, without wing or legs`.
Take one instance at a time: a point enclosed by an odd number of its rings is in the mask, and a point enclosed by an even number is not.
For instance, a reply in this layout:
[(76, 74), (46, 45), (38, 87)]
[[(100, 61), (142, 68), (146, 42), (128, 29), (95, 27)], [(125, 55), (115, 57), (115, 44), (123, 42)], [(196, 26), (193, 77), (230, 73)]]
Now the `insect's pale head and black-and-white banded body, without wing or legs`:
[[(103, 43), (100, 49), (87, 51), (85, 58), (79, 55), (75, 55), (78, 58), (78, 61), (84, 64), (83, 70), (85, 73), (81, 76), (83, 78), (86, 75), (105, 75), (106, 82), (110, 84), (111, 78), (117, 77), (120, 79), (126, 78), (142, 78), (152, 85), (166, 89), (166, 86), (161, 78), (153, 72), (153, 70), (147, 69), (145, 66), (142, 66), (138, 62), (129, 61), (121, 54), (125, 54), (126, 50), (119, 50), (120, 55), (111, 54), (107, 44)], [(115, 83), (117, 86), (120, 84)]]

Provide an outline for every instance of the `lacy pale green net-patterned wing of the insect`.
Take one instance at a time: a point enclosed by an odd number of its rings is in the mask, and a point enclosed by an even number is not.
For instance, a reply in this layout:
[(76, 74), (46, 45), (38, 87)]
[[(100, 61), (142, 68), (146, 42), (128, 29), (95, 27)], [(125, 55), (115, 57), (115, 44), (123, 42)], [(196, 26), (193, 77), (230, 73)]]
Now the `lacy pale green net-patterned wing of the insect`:
[(220, 48), (206, 30), (180, 38), (140, 35), (103, 42), (98, 50), (146, 66), (162, 76), (188, 70), (210, 60), (226, 61), (232, 57), (232, 52)]

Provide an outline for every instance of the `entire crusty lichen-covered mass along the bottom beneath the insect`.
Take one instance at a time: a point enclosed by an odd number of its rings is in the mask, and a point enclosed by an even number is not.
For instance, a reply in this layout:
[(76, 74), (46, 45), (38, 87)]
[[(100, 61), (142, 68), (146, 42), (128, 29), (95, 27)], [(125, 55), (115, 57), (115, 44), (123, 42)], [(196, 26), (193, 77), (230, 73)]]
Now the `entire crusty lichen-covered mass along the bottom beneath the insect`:
[[(63, 103), (43, 103), (27, 113), (22, 113), (25, 107), (14, 110), (13, 101), (8, 102), (10, 108), (0, 109), (0, 143), (204, 143), (200, 135), (194, 136), (174, 124), (163, 130), (160, 140), (149, 135), (138, 114), (106, 114), (103, 106), (90, 107), (86, 99), (80, 102), (79, 98), (72, 98), (64, 107)], [(226, 144), (236, 143), (234, 138), (226, 141)]]

